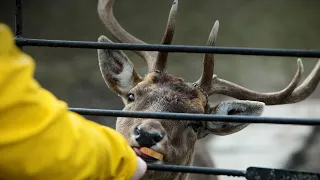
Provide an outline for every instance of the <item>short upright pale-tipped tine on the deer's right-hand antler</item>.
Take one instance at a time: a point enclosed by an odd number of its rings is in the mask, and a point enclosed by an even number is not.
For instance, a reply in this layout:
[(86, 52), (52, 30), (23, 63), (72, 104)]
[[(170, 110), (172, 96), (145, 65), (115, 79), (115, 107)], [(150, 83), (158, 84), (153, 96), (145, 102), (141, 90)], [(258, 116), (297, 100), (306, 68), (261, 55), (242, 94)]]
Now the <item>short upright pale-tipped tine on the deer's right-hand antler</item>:
[[(215, 21), (210, 32), (207, 46), (215, 46), (219, 31), (219, 21)], [(203, 60), (203, 71), (200, 79), (196, 82), (203, 88), (204, 91), (209, 91), (211, 88), (212, 76), (214, 73), (214, 54), (205, 54)]]

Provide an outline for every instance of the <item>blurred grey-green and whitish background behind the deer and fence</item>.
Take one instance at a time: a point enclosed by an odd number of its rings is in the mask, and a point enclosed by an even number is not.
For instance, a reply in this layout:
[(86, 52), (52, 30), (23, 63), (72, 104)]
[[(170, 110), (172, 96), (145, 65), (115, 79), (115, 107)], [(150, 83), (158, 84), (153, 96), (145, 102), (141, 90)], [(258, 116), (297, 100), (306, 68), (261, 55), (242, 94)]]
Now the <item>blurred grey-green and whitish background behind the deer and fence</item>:
[[(14, 29), (15, 2), (1, 0), (0, 21)], [(159, 43), (172, 0), (117, 0), (115, 16), (134, 36)], [(97, 1), (23, 1), (23, 36), (40, 39), (96, 41), (113, 39), (97, 14)], [(217, 46), (320, 49), (320, 1), (316, 0), (181, 0), (173, 44), (205, 45), (215, 20), (220, 21)], [(114, 40), (114, 39), (113, 39)], [(123, 108), (101, 77), (93, 49), (24, 47), (37, 63), (36, 79), (70, 107)], [(125, 51), (140, 74), (146, 63)], [(291, 81), (294, 57), (215, 55), (215, 73), (256, 91), (278, 91)], [(197, 80), (203, 54), (171, 53), (169, 72)], [(318, 59), (303, 58), (304, 78)], [(320, 87), (305, 101), (267, 107), (263, 116), (319, 117)], [(228, 99), (213, 96), (211, 101)], [(90, 117), (114, 127), (113, 117)], [(206, 147), (219, 168), (248, 166), (286, 167), (320, 171), (320, 129), (309, 126), (251, 125), (226, 137), (206, 139)], [(227, 178), (225, 178), (227, 179)], [(232, 179), (232, 178), (231, 178)]]

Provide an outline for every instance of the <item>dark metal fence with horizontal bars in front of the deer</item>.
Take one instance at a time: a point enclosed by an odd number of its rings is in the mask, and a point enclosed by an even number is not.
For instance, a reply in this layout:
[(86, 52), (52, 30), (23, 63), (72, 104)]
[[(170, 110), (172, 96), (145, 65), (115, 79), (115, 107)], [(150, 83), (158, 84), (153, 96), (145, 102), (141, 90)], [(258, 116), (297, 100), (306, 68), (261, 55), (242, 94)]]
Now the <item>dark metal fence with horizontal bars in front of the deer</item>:
[[(22, 3), (16, 0), (15, 12), (15, 41), (23, 46), (64, 47), (64, 48), (89, 48), (89, 49), (119, 49), (119, 50), (145, 50), (166, 51), (184, 53), (215, 53), (237, 54), (255, 56), (287, 56), (320, 58), (318, 50), (292, 50), (270, 48), (238, 48), (238, 47), (208, 47), (208, 46), (185, 46), (185, 45), (162, 45), (162, 44), (132, 44), (132, 43), (99, 43), (89, 41), (67, 41), (29, 39), (23, 37)], [(252, 117), (252, 116), (227, 116), (209, 114), (186, 114), (186, 113), (155, 113), (155, 112), (126, 112), (120, 110), (69, 108), (69, 110), (81, 115), (113, 116), (113, 117), (138, 117), (157, 118), (171, 120), (201, 120), (201, 121), (225, 121), (225, 122), (248, 122), (263, 124), (292, 124), (292, 125), (320, 125), (320, 118), (280, 118), (280, 117)], [(272, 169), (261, 167), (248, 167), (246, 170), (207, 168), (196, 166), (159, 165), (148, 164), (148, 170), (199, 173), (207, 175), (227, 175), (254, 179), (320, 179), (320, 174), (284, 169)]]

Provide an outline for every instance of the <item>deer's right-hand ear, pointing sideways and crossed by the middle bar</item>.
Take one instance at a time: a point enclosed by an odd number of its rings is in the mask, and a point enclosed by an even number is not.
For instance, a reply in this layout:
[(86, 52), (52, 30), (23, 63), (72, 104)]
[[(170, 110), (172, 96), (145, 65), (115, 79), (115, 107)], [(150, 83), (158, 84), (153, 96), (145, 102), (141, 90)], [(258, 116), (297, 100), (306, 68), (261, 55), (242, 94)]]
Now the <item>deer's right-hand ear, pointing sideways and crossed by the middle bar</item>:
[[(225, 101), (211, 108), (212, 114), (261, 116), (265, 104), (257, 101), (233, 100)], [(215, 135), (229, 135), (246, 128), (249, 123), (215, 122), (205, 123), (205, 131)]]

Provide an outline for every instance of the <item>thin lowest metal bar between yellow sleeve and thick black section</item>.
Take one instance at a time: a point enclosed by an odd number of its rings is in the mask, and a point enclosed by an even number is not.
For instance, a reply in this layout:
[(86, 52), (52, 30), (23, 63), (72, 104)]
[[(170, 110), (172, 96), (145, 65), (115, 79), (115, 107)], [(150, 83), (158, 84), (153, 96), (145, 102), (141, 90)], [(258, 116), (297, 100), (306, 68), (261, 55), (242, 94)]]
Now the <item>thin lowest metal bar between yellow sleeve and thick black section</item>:
[(207, 175), (227, 175), (227, 176), (242, 176), (246, 175), (246, 171), (233, 169), (218, 169), (197, 166), (180, 166), (180, 165), (162, 165), (162, 164), (148, 164), (147, 170), (195, 173)]

